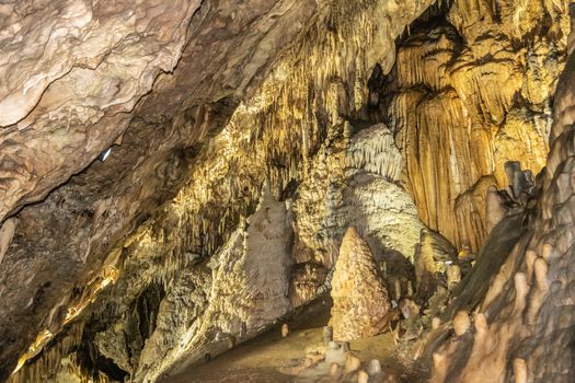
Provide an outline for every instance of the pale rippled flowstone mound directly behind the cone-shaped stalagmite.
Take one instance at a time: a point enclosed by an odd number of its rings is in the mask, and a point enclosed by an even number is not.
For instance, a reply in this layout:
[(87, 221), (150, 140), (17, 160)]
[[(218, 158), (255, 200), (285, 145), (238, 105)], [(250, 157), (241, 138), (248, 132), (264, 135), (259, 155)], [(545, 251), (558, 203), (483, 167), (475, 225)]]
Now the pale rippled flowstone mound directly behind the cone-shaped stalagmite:
[[(295, 256), (313, 269), (318, 263), (329, 267), (337, 256), (344, 228), (361, 228), (377, 260), (387, 265), (392, 277), (401, 278), (401, 293), (409, 290), (410, 263), (425, 227), (409, 193), (398, 185), (404, 165), (391, 137), (389, 128), (379, 124), (352, 135), (344, 148), (334, 144), (320, 150), (294, 205), (298, 234)], [(430, 236), (437, 265), (452, 259), (452, 245), (437, 233)], [(296, 277), (301, 268), (296, 268)], [(307, 279), (311, 278), (303, 281)], [(392, 286), (391, 277), (388, 282)], [(302, 290), (301, 285), (296, 288)]]

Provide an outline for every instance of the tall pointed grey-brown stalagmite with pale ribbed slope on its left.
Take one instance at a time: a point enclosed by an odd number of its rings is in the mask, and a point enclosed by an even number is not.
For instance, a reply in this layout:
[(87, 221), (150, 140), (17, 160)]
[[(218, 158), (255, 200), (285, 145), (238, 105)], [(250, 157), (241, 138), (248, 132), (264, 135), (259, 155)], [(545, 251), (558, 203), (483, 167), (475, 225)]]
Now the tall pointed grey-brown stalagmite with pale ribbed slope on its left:
[(174, 363), (185, 356), (187, 360), (176, 370), (199, 360), (207, 351), (211, 356), (226, 351), (228, 344), (219, 341), (217, 334), (229, 334), (243, 341), (275, 323), (290, 307), (291, 228), (286, 204), (276, 201), (266, 189), (246, 224), (210, 260), (209, 304), (187, 328), (188, 340), (165, 361)]

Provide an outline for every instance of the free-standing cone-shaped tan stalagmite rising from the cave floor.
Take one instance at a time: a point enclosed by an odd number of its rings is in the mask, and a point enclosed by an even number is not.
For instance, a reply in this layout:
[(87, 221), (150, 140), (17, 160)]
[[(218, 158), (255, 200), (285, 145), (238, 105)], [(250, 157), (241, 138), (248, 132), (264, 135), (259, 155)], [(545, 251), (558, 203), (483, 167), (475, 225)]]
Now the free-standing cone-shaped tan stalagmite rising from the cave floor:
[(353, 340), (382, 332), (390, 307), (368, 244), (355, 228), (342, 241), (332, 280), (332, 318), (335, 340)]

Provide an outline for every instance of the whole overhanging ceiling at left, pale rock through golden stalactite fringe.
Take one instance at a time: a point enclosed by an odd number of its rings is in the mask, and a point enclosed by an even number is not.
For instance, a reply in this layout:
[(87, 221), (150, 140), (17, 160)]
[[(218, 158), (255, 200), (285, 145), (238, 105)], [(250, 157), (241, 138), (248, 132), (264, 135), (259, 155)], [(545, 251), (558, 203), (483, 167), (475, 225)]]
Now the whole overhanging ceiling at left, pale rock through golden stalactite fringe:
[(173, 242), (158, 249), (166, 264), (209, 257), (253, 213), (266, 179), (299, 182), (323, 117), (336, 123), (335, 105), (360, 113), (370, 71), (391, 68), (395, 37), (430, 3), (2, 3), (2, 73), (14, 80), (2, 91), (22, 100), (32, 88), (0, 137), (0, 220), (20, 211), (23, 222), (0, 266), (0, 339), (15, 339), (0, 346), (0, 376), (59, 297), (147, 221)]

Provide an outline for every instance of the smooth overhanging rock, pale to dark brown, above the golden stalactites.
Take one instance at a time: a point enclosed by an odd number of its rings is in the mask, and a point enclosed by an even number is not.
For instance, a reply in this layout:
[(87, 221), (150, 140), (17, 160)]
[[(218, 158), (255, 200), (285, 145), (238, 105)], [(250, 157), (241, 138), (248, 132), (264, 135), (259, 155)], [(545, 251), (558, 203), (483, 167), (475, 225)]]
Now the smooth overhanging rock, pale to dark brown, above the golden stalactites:
[[(39, 96), (14, 108), (26, 115), (23, 124), (2, 126), (2, 220), (66, 184), (8, 221), (18, 228), (0, 264), (0, 376), (48, 325), (62, 297), (89, 285), (112, 247), (177, 193), (197, 142), (226, 124), (238, 98), (253, 93), (317, 4), (199, 5), (2, 5), (2, 49), (9, 53), (3, 73), (13, 74), (15, 86), (2, 91), (18, 97), (27, 78), (37, 79), (28, 95)], [(70, 20), (82, 27), (68, 28)], [(23, 45), (28, 48), (19, 49)], [(95, 161), (113, 144), (105, 163)]]

